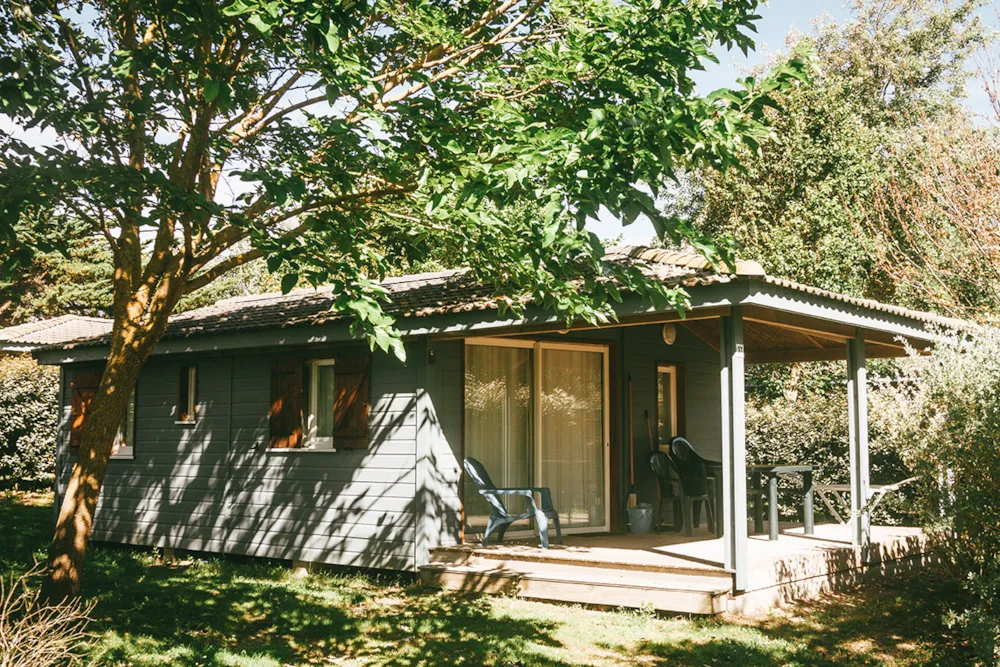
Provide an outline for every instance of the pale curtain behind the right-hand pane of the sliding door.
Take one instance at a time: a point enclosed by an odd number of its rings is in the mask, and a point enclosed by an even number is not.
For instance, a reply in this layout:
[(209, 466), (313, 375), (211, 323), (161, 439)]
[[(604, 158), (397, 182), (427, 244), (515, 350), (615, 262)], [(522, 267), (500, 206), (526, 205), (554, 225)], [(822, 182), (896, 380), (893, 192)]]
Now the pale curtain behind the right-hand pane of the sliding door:
[(588, 350), (541, 352), (542, 465), (564, 528), (605, 524), (604, 355)]

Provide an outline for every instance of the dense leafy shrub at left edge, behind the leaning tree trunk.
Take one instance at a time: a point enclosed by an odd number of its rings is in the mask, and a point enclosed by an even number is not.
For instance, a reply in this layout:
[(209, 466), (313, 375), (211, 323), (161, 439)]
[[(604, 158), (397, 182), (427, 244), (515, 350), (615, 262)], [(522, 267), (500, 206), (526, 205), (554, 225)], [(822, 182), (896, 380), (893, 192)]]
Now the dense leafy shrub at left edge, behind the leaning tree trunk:
[(39, 487), (55, 470), (59, 371), (0, 358), (0, 487)]

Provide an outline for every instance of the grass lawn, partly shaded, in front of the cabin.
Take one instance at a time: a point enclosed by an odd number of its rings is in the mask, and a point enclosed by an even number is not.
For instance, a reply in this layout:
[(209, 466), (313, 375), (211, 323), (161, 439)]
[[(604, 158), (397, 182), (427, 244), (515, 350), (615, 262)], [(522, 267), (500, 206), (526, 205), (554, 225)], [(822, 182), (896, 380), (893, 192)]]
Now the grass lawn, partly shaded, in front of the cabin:
[[(0, 572), (50, 537), (49, 495), (0, 496)], [(97, 665), (967, 665), (934, 572), (745, 619), (659, 618), (429, 592), (409, 578), (97, 546)]]

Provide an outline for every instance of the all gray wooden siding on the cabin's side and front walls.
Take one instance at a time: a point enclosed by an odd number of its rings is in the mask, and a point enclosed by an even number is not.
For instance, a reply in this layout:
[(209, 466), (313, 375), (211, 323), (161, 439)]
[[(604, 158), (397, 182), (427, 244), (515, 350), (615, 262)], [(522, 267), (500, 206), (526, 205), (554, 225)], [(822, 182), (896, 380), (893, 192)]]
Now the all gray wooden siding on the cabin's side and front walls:
[[(560, 337), (617, 345), (620, 402), (613, 409), (622, 416), (623, 489), (632, 373), (644, 501), (655, 496), (644, 411), (655, 414), (658, 361), (684, 364), (687, 436), (706, 456), (719, 457), (718, 353), (678, 329), (672, 346), (658, 325)], [(424, 339), (407, 344), (407, 354), (405, 365), (373, 356), (369, 448), (336, 452), (268, 450), (270, 353), (154, 357), (137, 387), (135, 459), (111, 462), (95, 538), (344, 566), (412, 570), (426, 562), (429, 549), (461, 535), (463, 343)], [(179, 368), (192, 359), (194, 426), (174, 422)], [(99, 367), (64, 368), (60, 491), (72, 465), (69, 382), (78, 370)], [(612, 503), (621, 507), (621, 500)]]

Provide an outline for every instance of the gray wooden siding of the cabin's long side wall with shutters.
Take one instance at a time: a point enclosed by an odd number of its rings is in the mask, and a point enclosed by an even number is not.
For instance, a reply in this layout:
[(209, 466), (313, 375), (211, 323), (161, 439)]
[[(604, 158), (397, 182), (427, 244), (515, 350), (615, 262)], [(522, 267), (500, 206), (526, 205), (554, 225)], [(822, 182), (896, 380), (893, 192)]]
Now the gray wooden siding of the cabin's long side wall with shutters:
[[(95, 539), (413, 569), (417, 364), (373, 355), (370, 446), (336, 452), (268, 450), (268, 353), (197, 359), (197, 424), (175, 424), (180, 364), (143, 369), (135, 459), (110, 463)], [(61, 485), (77, 369), (62, 390)]]

